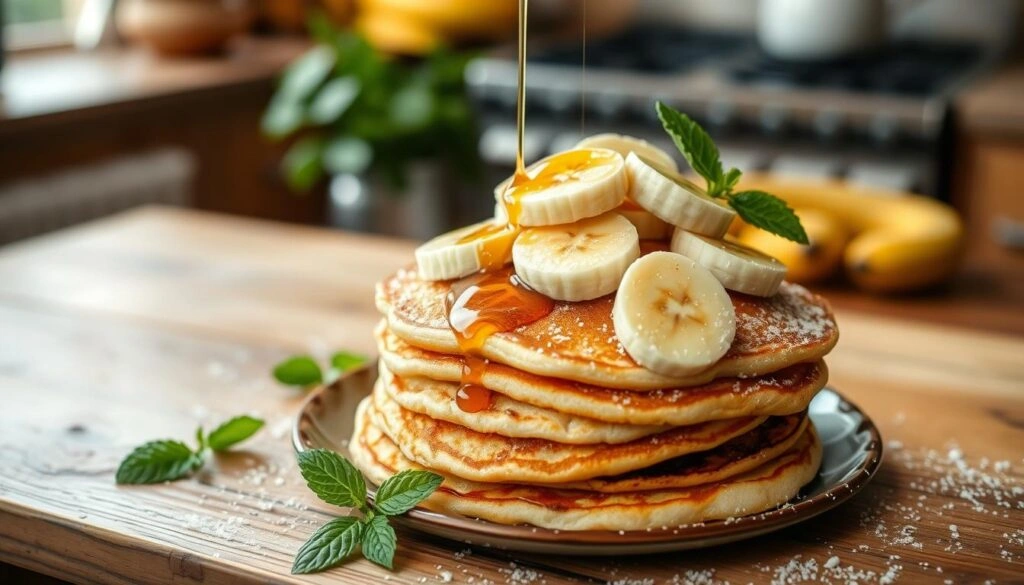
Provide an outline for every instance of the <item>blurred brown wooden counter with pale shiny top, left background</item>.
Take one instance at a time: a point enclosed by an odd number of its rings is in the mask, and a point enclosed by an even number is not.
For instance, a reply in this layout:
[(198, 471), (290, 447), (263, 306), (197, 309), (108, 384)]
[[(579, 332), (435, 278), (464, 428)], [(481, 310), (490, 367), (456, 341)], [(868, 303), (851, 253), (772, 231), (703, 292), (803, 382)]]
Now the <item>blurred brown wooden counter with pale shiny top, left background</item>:
[(194, 206), (322, 222), (323, 194), (289, 192), (278, 170), (284, 149), (259, 127), (279, 72), (306, 47), (250, 38), (216, 57), (163, 59), (139, 48), (14, 55), (0, 92), (0, 184), (174, 149), (197, 161)]

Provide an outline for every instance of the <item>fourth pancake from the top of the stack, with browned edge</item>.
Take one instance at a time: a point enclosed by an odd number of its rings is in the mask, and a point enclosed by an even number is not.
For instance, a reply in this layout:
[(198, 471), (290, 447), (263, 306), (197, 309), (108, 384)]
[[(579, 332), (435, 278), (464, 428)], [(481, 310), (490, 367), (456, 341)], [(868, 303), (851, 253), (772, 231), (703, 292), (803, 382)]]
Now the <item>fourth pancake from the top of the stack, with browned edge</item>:
[(767, 417), (705, 422), (620, 445), (564, 445), (482, 433), (398, 406), (380, 383), (370, 416), (406, 457), (430, 469), (476, 482), (564, 484), (617, 475), (695, 453), (748, 432)]

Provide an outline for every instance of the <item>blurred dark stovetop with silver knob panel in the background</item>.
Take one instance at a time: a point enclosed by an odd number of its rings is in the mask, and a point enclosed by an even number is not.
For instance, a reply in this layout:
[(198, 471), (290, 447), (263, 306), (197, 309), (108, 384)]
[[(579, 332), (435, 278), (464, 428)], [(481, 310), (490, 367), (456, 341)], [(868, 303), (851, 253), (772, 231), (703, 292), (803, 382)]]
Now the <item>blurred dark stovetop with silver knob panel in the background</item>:
[[(500, 52), (471, 65), (479, 100), (515, 103), (515, 60)], [(750, 35), (645, 25), (589, 43), (586, 86), (579, 41), (539, 47), (527, 69), (528, 106), (563, 117), (586, 102), (599, 118), (652, 120), (653, 98), (718, 127), (766, 135), (786, 131), (934, 141), (948, 97), (987, 65), (980, 47), (898, 41), (874, 53), (828, 62), (791, 62), (763, 53)], [(584, 95), (586, 94), (586, 96)]]

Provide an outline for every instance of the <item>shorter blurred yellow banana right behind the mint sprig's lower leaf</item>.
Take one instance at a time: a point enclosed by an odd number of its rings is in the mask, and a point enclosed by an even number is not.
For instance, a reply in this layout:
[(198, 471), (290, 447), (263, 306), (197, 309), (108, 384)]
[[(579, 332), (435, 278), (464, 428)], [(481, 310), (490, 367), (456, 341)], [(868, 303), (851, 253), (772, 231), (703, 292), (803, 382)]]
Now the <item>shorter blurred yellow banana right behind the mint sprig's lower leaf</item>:
[(833, 213), (821, 209), (798, 208), (796, 212), (807, 232), (807, 246), (745, 223), (736, 238), (785, 264), (787, 281), (809, 284), (835, 275), (843, 263), (849, 229)]

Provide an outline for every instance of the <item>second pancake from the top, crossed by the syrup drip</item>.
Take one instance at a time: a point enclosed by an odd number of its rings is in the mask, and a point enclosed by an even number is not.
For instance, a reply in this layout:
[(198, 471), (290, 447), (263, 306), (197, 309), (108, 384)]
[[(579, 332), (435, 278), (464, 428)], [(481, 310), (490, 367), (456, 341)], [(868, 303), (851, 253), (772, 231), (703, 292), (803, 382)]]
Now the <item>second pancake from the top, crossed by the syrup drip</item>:
[[(465, 367), (461, 357), (414, 347), (384, 324), (377, 330), (377, 342), (381, 361), (399, 376), (458, 382)], [(567, 415), (611, 423), (684, 426), (802, 412), (827, 378), (824, 362), (819, 361), (760, 378), (719, 378), (699, 386), (638, 392), (538, 376), (493, 362), (481, 382), (515, 401)]]

